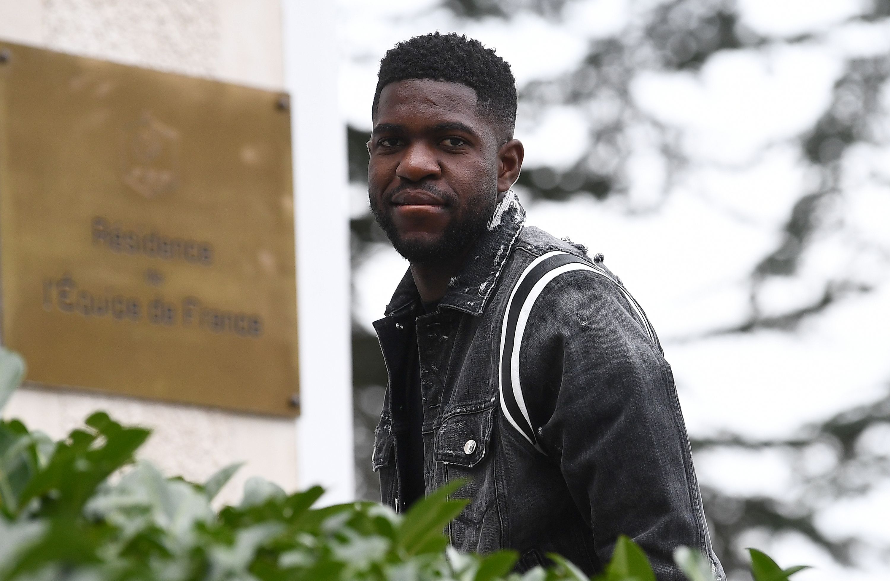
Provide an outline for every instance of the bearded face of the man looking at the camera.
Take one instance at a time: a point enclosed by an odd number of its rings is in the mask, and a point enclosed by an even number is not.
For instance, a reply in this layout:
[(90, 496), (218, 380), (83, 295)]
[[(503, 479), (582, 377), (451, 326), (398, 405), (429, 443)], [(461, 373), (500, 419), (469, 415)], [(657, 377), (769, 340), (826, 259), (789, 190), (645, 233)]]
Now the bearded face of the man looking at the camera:
[(464, 84), (388, 84), (368, 142), (368, 197), (396, 251), (419, 264), (456, 258), (498, 199), (498, 141)]

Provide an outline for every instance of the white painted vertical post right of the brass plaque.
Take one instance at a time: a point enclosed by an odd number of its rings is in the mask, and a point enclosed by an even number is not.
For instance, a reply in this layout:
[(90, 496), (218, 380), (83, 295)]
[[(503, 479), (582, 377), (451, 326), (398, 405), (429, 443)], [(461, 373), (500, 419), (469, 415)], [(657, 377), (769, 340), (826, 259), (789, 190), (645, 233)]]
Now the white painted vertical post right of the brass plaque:
[(346, 128), (337, 107), (336, 4), (281, 0), (292, 99), (302, 415), (297, 478), (355, 497)]

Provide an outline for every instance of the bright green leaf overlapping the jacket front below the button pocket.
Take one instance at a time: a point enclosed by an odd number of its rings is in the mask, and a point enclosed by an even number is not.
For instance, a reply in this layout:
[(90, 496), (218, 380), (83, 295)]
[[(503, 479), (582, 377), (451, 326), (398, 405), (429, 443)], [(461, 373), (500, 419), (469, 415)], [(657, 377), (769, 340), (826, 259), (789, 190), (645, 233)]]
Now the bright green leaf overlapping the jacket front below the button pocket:
[(449, 500), (449, 494), (466, 483), (465, 480), (449, 482), (428, 497), (421, 498), (401, 522), (398, 546), (408, 554), (419, 554), (431, 545), (430, 539), (441, 537), (445, 526), (464, 510), (468, 500)]

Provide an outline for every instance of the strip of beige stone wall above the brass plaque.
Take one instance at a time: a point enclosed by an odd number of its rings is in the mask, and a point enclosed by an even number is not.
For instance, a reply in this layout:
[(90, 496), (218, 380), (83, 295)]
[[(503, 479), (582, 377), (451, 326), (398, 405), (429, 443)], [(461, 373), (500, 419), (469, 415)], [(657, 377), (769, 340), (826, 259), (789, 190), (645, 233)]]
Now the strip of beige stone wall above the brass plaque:
[(278, 0), (0, 0), (0, 37), (269, 89), (284, 86)]

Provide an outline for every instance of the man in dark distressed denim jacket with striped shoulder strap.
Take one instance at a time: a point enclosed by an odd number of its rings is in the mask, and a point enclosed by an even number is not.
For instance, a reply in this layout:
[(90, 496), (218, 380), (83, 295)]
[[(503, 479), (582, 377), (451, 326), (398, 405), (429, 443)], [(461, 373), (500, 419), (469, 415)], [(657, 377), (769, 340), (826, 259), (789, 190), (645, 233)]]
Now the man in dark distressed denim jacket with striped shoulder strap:
[(468, 478), (458, 549), (513, 548), (520, 569), (561, 553), (594, 573), (626, 534), (659, 579), (684, 579), (679, 545), (722, 576), (658, 338), (601, 256), (523, 226), (515, 115), (509, 65), (465, 36), (381, 62), (368, 195), (410, 262), (375, 322), (384, 502)]

